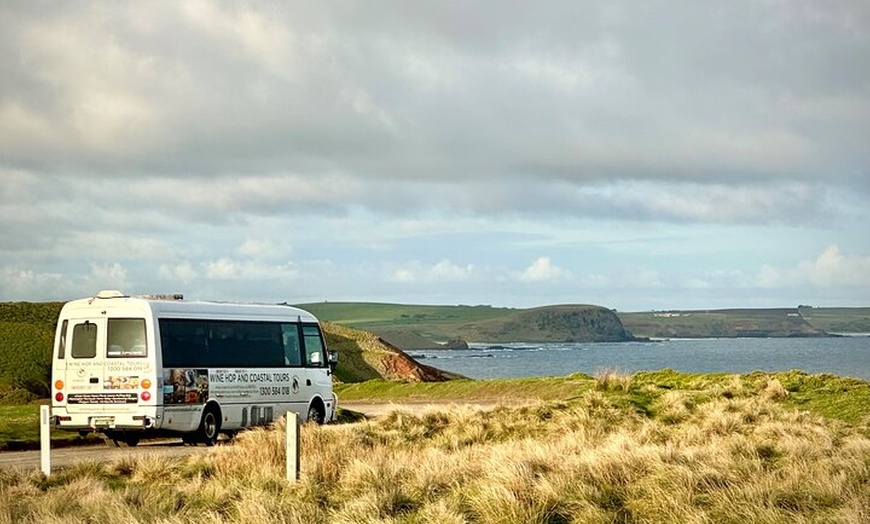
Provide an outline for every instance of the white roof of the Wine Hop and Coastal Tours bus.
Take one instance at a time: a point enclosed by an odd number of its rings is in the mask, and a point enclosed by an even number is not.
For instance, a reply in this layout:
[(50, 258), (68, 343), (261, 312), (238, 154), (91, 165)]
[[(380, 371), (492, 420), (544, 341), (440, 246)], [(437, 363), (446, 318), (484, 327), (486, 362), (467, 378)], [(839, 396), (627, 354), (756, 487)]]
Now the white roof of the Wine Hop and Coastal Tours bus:
[(317, 322), (317, 318), (311, 313), (284, 304), (184, 301), (176, 297), (178, 295), (131, 297), (116, 291), (101, 291), (91, 298), (67, 302), (61, 315), (90, 309), (121, 314), (123, 310), (150, 310), (156, 318)]

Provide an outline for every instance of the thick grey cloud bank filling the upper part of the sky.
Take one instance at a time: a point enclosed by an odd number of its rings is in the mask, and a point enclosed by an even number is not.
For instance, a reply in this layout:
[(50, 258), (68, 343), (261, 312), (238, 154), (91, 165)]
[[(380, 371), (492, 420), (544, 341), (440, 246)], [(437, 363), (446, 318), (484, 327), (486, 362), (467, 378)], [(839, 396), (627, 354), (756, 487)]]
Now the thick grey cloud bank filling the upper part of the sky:
[(723, 182), (870, 160), (863, 2), (4, 11), (15, 166)]

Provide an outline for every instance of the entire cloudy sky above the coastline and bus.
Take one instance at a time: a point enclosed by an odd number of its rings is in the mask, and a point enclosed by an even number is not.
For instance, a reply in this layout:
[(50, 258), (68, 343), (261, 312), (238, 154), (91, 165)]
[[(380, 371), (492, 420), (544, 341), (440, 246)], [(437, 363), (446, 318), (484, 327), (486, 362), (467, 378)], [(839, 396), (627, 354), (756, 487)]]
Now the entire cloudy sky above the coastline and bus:
[(870, 306), (866, 0), (0, 3), (0, 301)]

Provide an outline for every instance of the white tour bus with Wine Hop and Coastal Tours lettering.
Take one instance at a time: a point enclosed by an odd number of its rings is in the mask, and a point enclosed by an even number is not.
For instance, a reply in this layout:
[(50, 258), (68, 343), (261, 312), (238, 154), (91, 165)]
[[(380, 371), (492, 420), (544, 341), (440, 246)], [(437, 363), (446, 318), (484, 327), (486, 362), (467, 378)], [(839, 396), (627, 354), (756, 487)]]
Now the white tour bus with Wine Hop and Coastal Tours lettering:
[(337, 409), (335, 357), (301, 309), (101, 291), (61, 310), (52, 415), (130, 446), (149, 435), (213, 445), (287, 411), (324, 423)]

